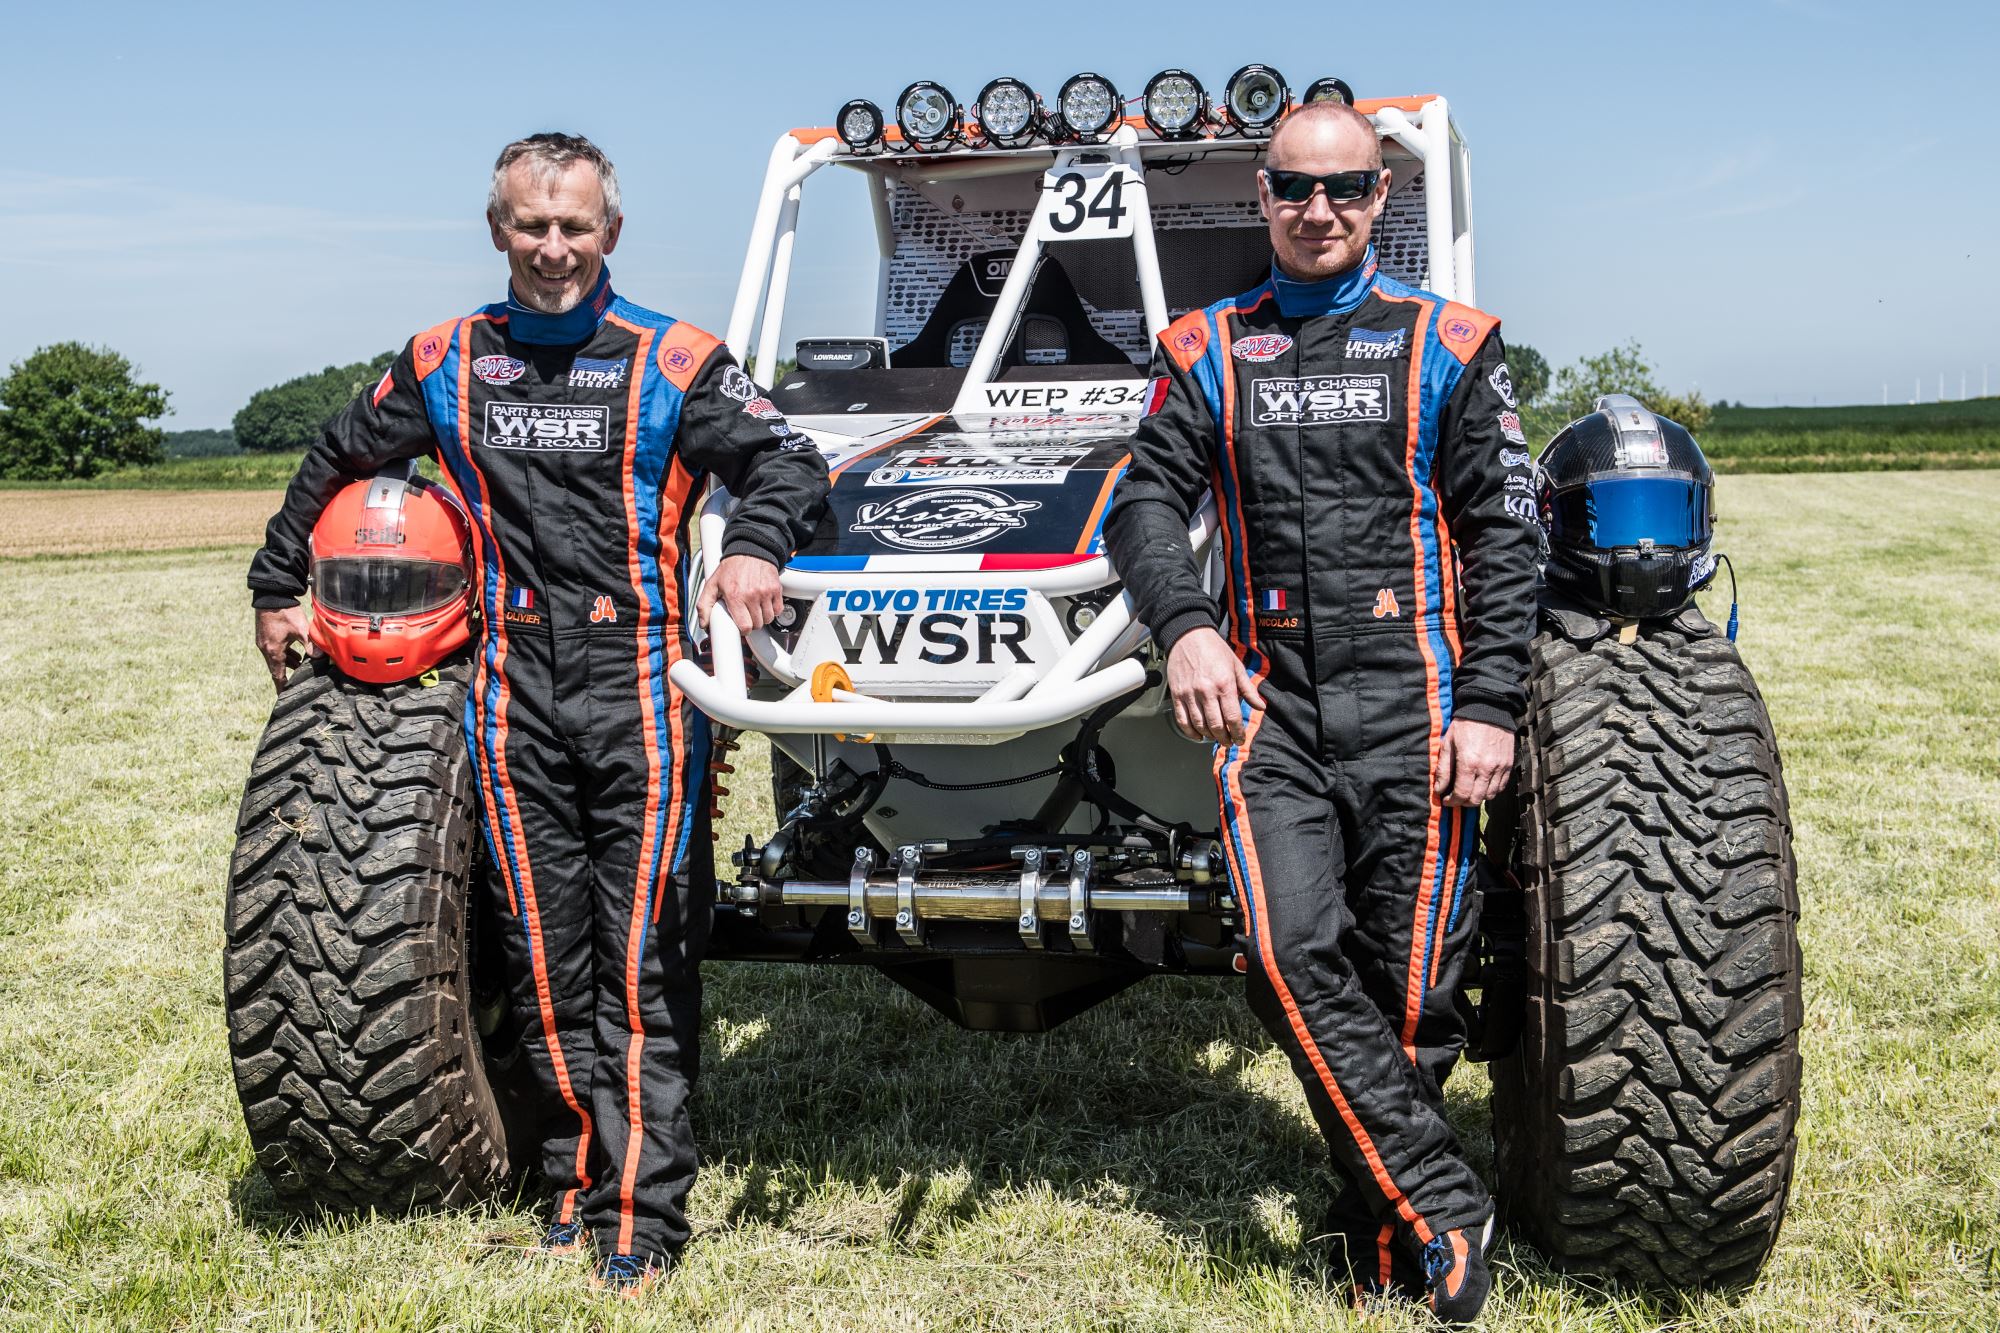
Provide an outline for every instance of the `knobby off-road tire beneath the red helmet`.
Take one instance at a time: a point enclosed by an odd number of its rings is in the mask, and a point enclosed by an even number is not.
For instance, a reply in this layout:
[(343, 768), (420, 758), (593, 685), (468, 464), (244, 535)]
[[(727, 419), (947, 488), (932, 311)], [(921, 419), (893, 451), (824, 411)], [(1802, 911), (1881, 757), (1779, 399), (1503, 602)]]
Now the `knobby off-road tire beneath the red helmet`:
[(508, 1175), (468, 995), (462, 709), (324, 660), (278, 695), (230, 865), (230, 1057), (258, 1165), (304, 1209), (460, 1205)]

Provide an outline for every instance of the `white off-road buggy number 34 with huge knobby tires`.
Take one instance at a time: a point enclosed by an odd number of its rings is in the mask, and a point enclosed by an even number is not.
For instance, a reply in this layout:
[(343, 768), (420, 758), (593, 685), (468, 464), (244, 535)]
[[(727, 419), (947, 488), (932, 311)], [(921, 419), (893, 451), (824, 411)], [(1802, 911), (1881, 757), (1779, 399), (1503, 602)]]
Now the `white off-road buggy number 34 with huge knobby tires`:
[[(834, 488), (780, 622), (744, 640), (716, 616), (672, 673), (724, 737), (770, 735), (778, 769), (778, 827), (724, 857), (710, 959), (872, 967), (1012, 1031), (1154, 973), (1242, 971), (1210, 749), (1172, 727), (1102, 524), (1152, 336), (1270, 262), (1254, 168), (1288, 94), (1260, 72), (1218, 112), (1162, 76), (1144, 118), (1084, 76), (1046, 114), (1006, 80), (972, 116), (914, 84), (892, 126), (856, 102), (778, 138), (728, 344), (796, 354), (772, 398)], [(1472, 302), (1444, 98), (1358, 108), (1394, 172), (1382, 268)], [(786, 346), (802, 188), (828, 166), (866, 184), (874, 324)], [(714, 490), (708, 556), (728, 512)], [(1214, 526), (1194, 518), (1198, 552)], [(508, 1175), (514, 1039), (468, 943), (466, 675), (312, 662), (258, 747), (230, 1045), (286, 1201), (456, 1203)], [(1792, 1169), (1800, 955), (1776, 741), (1732, 642), (1692, 608), (1550, 608), (1516, 793), (1486, 823), (1506, 887), (1468, 1003), (1502, 1207), (1568, 1269), (1752, 1277)]]

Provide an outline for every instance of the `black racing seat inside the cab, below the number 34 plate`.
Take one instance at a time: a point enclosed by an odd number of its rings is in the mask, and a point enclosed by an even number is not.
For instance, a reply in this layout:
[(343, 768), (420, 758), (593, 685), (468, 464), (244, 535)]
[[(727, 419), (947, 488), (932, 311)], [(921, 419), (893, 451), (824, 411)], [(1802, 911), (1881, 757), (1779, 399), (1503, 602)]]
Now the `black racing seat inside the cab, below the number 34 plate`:
[[(938, 296), (930, 318), (914, 338), (896, 348), (894, 366), (964, 366), (972, 358), (986, 320), (1000, 300), (1012, 250), (974, 254)], [(1062, 264), (1044, 254), (1036, 264), (1022, 302), (1020, 326), (1000, 352), (1002, 366), (1130, 366), (1132, 358), (1118, 350), (1090, 324), (1084, 298)]]

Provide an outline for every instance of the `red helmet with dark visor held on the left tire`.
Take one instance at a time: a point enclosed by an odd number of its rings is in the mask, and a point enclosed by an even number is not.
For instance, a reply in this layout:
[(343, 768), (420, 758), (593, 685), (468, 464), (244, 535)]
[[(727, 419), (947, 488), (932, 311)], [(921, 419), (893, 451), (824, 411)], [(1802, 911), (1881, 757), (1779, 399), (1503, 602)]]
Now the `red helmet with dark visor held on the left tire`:
[(458, 496), (394, 466), (312, 528), (312, 644), (356, 681), (418, 677), (472, 634), (472, 524)]

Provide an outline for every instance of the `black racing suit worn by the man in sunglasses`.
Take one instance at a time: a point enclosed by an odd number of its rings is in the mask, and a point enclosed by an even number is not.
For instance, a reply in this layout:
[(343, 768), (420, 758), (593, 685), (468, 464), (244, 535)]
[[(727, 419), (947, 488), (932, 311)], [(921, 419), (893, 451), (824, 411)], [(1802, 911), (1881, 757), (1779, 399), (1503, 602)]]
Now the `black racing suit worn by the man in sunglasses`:
[(1214, 757), (1250, 1003), (1350, 1177), (1330, 1221), (1382, 1283), (1420, 1283), (1420, 1247), (1492, 1207), (1440, 1091), (1478, 811), (1432, 781), (1454, 719), (1512, 729), (1524, 705), (1534, 500), (1496, 328), (1372, 250), (1182, 316), (1106, 526), (1164, 654), (1218, 624), (1188, 546), (1216, 496), (1222, 628), (1264, 697)]

